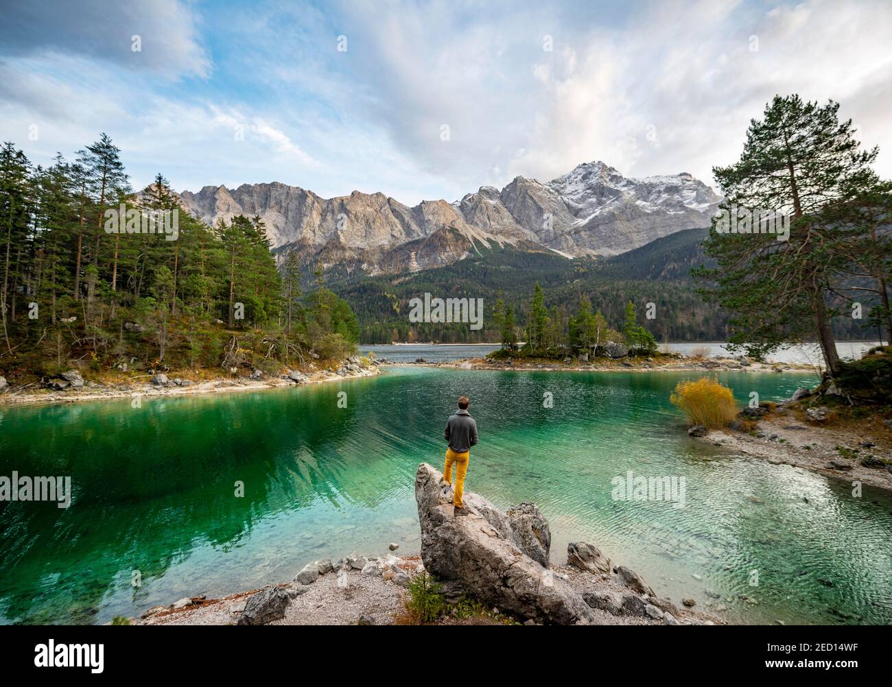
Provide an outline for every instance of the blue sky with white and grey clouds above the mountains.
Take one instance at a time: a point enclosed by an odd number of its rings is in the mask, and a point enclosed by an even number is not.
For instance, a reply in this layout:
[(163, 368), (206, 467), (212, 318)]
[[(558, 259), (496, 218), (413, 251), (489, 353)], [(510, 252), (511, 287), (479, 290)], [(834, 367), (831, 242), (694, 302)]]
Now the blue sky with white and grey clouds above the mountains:
[(886, 0), (49, 0), (2, 19), (0, 137), (46, 164), (104, 131), (135, 188), (160, 171), (414, 204), (593, 159), (712, 184), (791, 92), (841, 102), (892, 176)]

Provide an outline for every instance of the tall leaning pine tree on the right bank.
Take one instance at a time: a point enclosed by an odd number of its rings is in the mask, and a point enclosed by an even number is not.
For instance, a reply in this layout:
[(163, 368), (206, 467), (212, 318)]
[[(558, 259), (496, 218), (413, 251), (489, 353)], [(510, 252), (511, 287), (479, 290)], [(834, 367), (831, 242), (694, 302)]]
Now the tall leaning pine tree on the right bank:
[(750, 122), (740, 159), (713, 169), (723, 208), (789, 215), (789, 241), (772, 233), (723, 233), (717, 222), (705, 247), (718, 268), (698, 271), (714, 280), (703, 292), (734, 313), (732, 344), (764, 356), (813, 335), (831, 375), (839, 358), (828, 296), (845, 269), (853, 235), (824, 213), (865, 191), (878, 152), (858, 151), (852, 122), (840, 122), (838, 109), (837, 102), (820, 106), (798, 95), (775, 96), (763, 119)]

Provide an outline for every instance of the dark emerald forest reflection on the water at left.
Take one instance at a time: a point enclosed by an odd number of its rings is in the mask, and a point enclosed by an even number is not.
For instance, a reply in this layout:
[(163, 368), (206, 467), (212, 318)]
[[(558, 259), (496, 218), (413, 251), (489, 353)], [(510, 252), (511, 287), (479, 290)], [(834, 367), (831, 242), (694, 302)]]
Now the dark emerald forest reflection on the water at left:
[[(342, 389), (346, 408), (337, 407)], [(379, 449), (405, 441), (395, 429), (406, 419), (388, 418), (381, 403), (360, 404), (369, 390), (359, 381), (143, 399), (139, 409), (54, 408), (14, 427), (7, 418), (0, 474), (70, 475), (74, 498), (68, 510), (0, 505), (6, 620), (90, 622), (133, 569), (145, 585), (195, 547), (231, 548), (260, 519), (319, 498), (374, 507), (395, 488), (389, 463), (398, 454)], [(236, 480), (243, 498), (235, 498)]]

